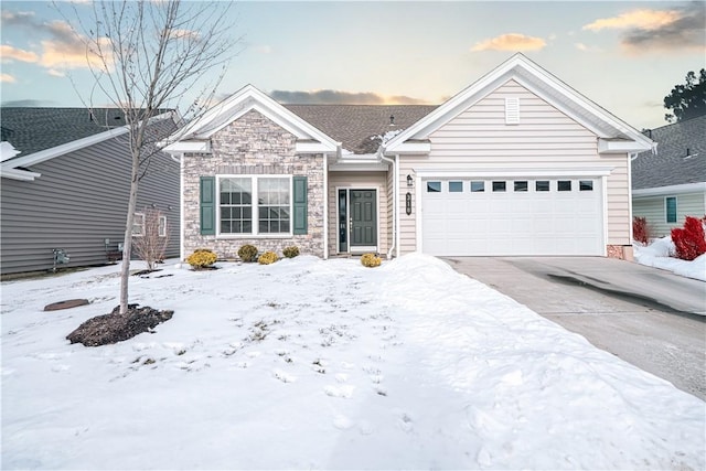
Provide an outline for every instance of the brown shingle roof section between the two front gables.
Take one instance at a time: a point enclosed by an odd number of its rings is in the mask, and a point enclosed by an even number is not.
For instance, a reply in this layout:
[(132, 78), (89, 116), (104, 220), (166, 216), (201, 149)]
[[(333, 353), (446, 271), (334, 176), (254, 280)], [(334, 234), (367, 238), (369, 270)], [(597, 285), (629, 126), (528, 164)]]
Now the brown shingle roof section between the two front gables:
[(282, 105), (343, 149), (375, 153), (388, 132), (400, 131), (434, 111), (431, 105)]

